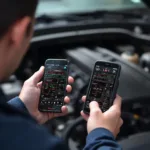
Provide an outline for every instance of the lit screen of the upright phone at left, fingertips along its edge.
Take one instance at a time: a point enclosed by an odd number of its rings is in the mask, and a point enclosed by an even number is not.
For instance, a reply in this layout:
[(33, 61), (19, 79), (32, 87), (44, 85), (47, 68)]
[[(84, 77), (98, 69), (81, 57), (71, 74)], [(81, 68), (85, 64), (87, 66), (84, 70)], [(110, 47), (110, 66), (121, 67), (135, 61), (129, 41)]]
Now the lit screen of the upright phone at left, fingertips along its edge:
[(68, 65), (66, 62), (46, 65), (40, 106), (51, 110), (63, 105), (67, 74)]

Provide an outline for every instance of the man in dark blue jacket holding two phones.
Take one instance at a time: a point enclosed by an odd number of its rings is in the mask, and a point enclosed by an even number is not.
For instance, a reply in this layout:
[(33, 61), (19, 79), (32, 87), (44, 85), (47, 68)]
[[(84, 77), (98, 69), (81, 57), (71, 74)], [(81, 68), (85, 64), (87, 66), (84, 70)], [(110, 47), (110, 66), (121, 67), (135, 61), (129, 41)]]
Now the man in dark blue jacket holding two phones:
[[(25, 55), (33, 32), (34, 14), (37, 0), (0, 1), (0, 81), (15, 71)], [(52, 136), (41, 126), (46, 121), (65, 115), (41, 113), (38, 102), (41, 89), (41, 67), (22, 88), (20, 95), (5, 104), (0, 100), (0, 149), (2, 150), (67, 150), (63, 141)], [(69, 84), (73, 78), (68, 78)], [(66, 87), (71, 92), (70, 85)], [(65, 97), (69, 103), (70, 99)], [(83, 97), (85, 101), (85, 97)], [(87, 144), (85, 150), (120, 150), (115, 141), (123, 123), (120, 118), (121, 98), (116, 97), (114, 105), (104, 114), (97, 102), (90, 104), (90, 115), (81, 115), (87, 120)]]

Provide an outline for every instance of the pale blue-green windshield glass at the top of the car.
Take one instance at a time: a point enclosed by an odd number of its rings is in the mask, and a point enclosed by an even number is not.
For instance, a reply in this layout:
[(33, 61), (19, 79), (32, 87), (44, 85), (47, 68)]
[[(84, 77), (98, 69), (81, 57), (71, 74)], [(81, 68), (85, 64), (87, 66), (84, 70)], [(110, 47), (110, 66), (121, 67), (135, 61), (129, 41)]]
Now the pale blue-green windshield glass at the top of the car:
[(145, 7), (141, 0), (40, 0), (38, 14), (64, 14)]

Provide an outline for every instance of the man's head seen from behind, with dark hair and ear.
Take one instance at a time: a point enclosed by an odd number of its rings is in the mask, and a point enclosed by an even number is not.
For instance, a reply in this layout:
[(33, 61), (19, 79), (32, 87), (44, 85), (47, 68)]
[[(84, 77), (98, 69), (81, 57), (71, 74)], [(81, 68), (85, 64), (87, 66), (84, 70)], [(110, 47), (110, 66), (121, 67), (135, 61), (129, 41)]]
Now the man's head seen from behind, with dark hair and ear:
[(38, 0), (0, 0), (0, 80), (17, 69), (28, 49), (37, 3)]

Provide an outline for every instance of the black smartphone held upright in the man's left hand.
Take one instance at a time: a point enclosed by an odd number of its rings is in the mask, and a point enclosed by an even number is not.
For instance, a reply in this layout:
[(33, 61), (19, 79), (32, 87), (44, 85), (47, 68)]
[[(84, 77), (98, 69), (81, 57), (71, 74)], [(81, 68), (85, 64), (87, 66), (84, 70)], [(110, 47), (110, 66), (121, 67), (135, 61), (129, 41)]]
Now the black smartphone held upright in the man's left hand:
[(48, 59), (45, 62), (39, 111), (61, 113), (68, 81), (68, 60)]

